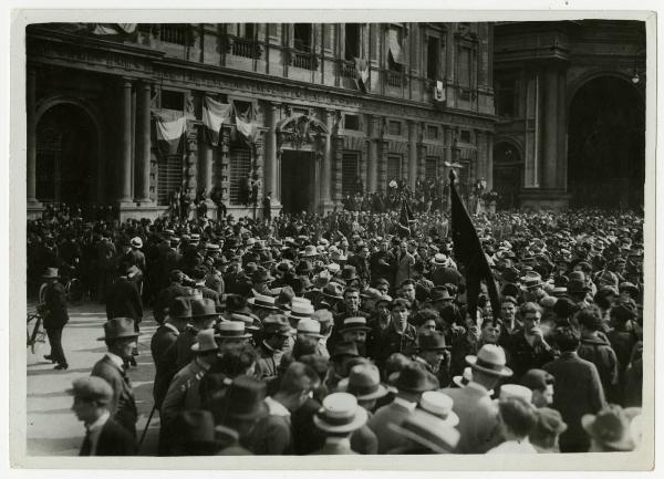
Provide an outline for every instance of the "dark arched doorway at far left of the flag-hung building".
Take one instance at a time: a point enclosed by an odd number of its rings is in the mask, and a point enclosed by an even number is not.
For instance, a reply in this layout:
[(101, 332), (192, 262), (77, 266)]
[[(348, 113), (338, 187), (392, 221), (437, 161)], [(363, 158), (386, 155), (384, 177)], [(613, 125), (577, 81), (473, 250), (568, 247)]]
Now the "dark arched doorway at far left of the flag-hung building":
[(97, 142), (83, 108), (60, 103), (44, 112), (37, 125), (37, 198), (68, 205), (94, 200)]

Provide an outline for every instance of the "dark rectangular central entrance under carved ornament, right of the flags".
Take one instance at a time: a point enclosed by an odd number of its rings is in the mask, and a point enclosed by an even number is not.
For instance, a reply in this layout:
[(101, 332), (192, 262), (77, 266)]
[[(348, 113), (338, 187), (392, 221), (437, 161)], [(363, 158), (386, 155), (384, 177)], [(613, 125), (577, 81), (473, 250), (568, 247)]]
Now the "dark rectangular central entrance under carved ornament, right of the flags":
[(283, 152), (281, 155), (281, 205), (287, 214), (313, 211), (315, 186), (313, 154)]

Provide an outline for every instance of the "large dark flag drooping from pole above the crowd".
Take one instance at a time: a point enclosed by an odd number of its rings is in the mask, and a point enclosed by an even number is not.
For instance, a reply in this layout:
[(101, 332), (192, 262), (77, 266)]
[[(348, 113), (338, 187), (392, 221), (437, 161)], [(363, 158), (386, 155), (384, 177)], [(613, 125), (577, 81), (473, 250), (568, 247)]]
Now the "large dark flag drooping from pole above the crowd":
[(477, 230), (461, 201), (455, 186), (456, 174), (449, 171), (449, 196), (452, 200), (452, 239), (454, 241), (454, 256), (466, 267), (466, 296), (468, 313), (475, 320), (477, 316), (477, 296), (479, 283), (484, 281), (489, 291), (494, 317), (500, 313), (500, 298), (491, 268), (479, 242)]

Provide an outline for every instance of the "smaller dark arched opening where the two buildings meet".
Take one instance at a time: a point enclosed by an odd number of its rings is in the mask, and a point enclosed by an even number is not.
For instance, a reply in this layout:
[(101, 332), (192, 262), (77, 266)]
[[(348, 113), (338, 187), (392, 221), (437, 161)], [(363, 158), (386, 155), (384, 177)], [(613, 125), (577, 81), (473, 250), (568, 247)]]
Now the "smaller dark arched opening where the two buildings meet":
[(494, 145), (494, 191), (498, 194), (496, 207), (519, 207), (522, 160), (519, 149), (510, 142)]

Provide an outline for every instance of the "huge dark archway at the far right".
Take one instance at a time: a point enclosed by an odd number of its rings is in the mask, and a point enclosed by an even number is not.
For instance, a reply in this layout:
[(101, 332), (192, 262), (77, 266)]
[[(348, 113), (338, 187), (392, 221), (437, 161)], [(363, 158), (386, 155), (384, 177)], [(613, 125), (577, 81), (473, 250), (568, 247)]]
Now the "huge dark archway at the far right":
[(645, 171), (645, 108), (627, 81), (599, 76), (570, 105), (568, 190), (574, 207), (639, 208)]

